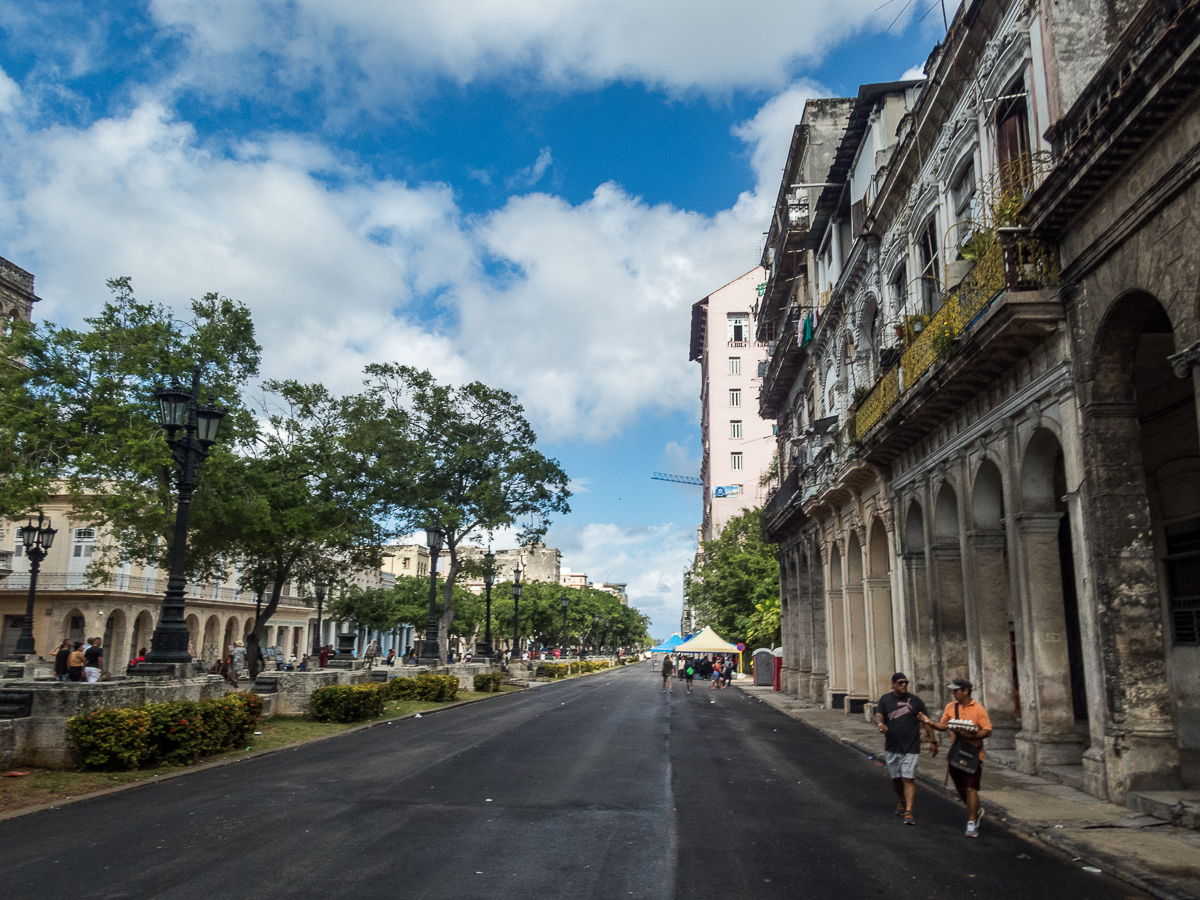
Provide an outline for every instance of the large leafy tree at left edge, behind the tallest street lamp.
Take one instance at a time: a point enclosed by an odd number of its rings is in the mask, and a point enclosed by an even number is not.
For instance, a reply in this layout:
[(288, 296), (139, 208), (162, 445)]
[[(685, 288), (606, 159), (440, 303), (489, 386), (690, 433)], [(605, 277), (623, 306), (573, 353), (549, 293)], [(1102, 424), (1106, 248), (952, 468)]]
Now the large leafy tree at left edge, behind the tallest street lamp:
[[(197, 505), (211, 492), (214, 461), (252, 425), (240, 402), (258, 371), (250, 312), (218, 294), (193, 300), (187, 322), (138, 302), (130, 278), (108, 282), (113, 300), (86, 328), (14, 323), (0, 335), (0, 515), (37, 509), (66, 491), (77, 515), (114, 538), (94, 575), (118, 559), (166, 568), (175, 520), (175, 466), (157, 421), (155, 391), (193, 365), (202, 385), (230, 410), (200, 470)], [(220, 464), (217, 462), (216, 464)], [(204, 528), (193, 518), (193, 532)], [(192, 578), (211, 576), (214, 554), (188, 554)]]

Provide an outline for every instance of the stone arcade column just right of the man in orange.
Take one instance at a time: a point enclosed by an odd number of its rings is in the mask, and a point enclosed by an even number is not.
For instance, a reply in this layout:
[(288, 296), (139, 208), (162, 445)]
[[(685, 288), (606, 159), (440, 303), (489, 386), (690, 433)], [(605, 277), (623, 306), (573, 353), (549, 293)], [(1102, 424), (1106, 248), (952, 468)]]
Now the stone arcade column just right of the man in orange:
[[(1021, 692), (1025, 707), (1016, 736), (1016, 766), (1037, 774), (1046, 766), (1075, 766), (1084, 739), (1075, 733), (1070, 696), (1070, 660), (1067, 655), (1067, 619), (1062, 601), (1058, 559), (1060, 512), (1021, 512), (1016, 516), (1020, 542), (1020, 589), (1026, 611), (1025, 636), (1032, 659), (1030, 686)], [(1030, 715), (1037, 710), (1037, 715)], [(1027, 712), (1026, 712), (1027, 710)]]

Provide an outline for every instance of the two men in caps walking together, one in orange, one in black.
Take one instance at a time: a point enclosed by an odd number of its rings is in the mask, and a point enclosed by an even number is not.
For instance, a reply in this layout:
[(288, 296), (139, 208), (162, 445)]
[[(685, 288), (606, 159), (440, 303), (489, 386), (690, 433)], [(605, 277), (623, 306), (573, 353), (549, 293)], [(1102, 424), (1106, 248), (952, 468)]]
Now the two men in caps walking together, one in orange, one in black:
[(991, 734), (988, 710), (971, 697), (973, 690), (966, 678), (955, 678), (947, 688), (953, 700), (937, 721), (930, 719), (925, 703), (908, 690), (904, 672), (892, 676), (892, 690), (880, 697), (875, 707), (875, 725), (883, 737), (883, 760), (896, 794), (895, 815), (905, 824), (917, 824), (912, 804), (917, 796), (917, 762), (920, 758), (922, 734), (929, 742), (929, 755), (937, 756), (938, 732), (950, 732), (947, 750), (947, 776), (954, 781), (959, 797), (967, 808), (967, 838), (979, 836), (979, 782), (983, 775), (983, 742)]

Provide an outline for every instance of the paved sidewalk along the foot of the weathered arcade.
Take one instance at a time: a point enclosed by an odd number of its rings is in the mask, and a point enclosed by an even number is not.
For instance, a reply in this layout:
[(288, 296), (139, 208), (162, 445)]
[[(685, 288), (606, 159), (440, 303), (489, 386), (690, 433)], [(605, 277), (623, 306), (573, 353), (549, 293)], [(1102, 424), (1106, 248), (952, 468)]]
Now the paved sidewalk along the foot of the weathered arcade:
[[(882, 756), (883, 737), (862, 716), (812, 704), (734, 682), (746, 694), (773, 706), (866, 756)], [(917, 779), (942, 790), (946, 744), (936, 758), (922, 754)], [(950, 786), (950, 794), (954, 788)], [(1178, 828), (1153, 816), (1099, 800), (1074, 787), (1024, 775), (1003, 766), (988, 766), (980, 791), (988, 816), (984, 829), (1003, 822), (1008, 828), (1093, 865), (1158, 898), (1200, 899), (1200, 832)]]

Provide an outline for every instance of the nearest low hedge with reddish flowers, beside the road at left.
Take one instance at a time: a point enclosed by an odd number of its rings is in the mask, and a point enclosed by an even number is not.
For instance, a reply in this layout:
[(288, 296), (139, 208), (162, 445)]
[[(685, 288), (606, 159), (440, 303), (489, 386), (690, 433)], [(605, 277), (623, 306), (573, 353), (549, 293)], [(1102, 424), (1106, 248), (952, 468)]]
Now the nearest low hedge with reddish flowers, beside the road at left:
[(229, 694), (83, 713), (67, 721), (67, 737), (86, 769), (190, 766), (242, 746), (262, 714), (257, 694)]

